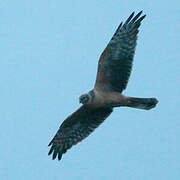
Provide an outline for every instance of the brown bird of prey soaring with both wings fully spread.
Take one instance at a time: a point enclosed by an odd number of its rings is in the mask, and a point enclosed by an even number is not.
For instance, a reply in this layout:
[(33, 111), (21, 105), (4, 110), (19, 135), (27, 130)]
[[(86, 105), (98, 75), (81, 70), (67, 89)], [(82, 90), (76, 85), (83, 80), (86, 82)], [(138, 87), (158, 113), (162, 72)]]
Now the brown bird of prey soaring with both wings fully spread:
[(94, 88), (79, 97), (83, 105), (68, 116), (49, 143), (52, 159), (62, 155), (97, 128), (113, 108), (127, 106), (149, 110), (158, 103), (156, 98), (135, 98), (122, 94), (126, 89), (136, 48), (137, 34), (146, 15), (134, 12), (121, 22), (101, 54)]

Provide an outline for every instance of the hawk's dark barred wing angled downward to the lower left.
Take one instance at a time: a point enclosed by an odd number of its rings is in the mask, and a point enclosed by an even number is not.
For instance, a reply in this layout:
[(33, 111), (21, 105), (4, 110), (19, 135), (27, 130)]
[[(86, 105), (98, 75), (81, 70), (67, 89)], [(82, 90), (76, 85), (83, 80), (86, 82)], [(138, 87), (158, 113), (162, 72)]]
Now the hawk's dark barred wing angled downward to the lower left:
[(48, 155), (53, 153), (52, 159), (58, 155), (58, 160), (61, 160), (63, 153), (86, 138), (111, 113), (111, 108), (81, 106), (61, 124), (58, 132), (49, 143), (51, 149)]

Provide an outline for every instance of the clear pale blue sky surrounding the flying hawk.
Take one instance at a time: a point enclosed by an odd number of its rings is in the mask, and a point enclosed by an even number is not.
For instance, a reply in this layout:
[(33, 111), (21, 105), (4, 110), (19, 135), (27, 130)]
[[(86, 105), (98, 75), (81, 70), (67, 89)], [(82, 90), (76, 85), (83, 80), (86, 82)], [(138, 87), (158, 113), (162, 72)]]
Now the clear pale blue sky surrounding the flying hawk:
[[(144, 10), (124, 94), (151, 111), (117, 108), (59, 162), (47, 156), (62, 121), (95, 81), (122, 20)], [(0, 179), (180, 179), (180, 1), (0, 0)]]

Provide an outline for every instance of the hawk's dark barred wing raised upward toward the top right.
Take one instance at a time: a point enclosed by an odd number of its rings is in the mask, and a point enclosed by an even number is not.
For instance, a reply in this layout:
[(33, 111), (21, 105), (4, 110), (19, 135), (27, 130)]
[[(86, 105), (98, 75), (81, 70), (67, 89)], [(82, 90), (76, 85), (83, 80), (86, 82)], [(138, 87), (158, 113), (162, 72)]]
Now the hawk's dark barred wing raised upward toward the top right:
[(136, 48), (138, 28), (145, 18), (142, 11), (134, 12), (121, 23), (102, 53), (96, 77), (95, 89), (122, 92), (128, 83)]

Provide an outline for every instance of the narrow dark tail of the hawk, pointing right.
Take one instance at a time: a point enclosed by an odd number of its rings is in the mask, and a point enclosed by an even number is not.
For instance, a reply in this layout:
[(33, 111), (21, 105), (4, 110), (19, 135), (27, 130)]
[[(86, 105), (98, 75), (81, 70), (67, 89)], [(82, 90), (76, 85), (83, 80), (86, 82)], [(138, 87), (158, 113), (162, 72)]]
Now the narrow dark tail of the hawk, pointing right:
[(128, 107), (149, 110), (156, 106), (158, 100), (156, 98), (128, 98)]

